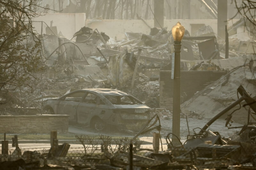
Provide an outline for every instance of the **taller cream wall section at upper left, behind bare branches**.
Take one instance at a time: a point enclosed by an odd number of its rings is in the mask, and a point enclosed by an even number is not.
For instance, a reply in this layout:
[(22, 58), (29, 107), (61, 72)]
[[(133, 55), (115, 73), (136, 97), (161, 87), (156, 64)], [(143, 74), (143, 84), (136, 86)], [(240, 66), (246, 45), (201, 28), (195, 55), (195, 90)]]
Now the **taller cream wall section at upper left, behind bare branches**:
[(48, 26), (57, 26), (58, 33), (71, 39), (82, 27), (85, 26), (85, 13), (42, 13), (42, 16), (33, 19), (34, 21), (44, 21)]

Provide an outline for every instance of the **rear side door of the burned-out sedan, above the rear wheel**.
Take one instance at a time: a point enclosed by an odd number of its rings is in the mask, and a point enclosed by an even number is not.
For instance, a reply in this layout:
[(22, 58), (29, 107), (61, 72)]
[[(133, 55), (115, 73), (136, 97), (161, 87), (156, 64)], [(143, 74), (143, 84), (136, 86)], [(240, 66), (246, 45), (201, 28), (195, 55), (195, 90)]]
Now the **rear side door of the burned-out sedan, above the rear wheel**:
[(77, 122), (89, 125), (93, 116), (102, 114), (100, 101), (99, 96), (88, 92), (77, 108)]

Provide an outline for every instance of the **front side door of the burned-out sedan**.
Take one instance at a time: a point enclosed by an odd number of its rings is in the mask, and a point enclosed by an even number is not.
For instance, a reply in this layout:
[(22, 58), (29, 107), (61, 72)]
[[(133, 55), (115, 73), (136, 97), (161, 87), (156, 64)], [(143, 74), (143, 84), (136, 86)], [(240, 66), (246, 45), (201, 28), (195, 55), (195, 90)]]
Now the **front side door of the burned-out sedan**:
[(60, 99), (57, 114), (69, 115), (70, 122), (77, 122), (77, 107), (86, 92), (73, 92)]

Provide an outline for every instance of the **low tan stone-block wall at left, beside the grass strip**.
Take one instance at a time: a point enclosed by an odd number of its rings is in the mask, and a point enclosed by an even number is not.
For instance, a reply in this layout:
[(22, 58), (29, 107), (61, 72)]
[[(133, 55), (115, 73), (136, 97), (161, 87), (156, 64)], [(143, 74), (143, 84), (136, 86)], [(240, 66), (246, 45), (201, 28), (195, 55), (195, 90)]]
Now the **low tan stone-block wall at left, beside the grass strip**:
[(68, 132), (68, 115), (0, 116), (0, 133)]

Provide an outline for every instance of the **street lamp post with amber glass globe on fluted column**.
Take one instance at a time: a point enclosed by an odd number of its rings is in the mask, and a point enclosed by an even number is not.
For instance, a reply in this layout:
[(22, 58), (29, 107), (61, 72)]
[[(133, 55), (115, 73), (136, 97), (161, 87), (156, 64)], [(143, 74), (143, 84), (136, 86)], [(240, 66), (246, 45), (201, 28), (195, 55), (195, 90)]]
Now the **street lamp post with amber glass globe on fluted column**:
[[(180, 138), (180, 48), (185, 28), (177, 22), (172, 27), (174, 39), (174, 74), (173, 74), (173, 102), (172, 102), (172, 133)], [(172, 143), (179, 144), (176, 137), (172, 136)]]

